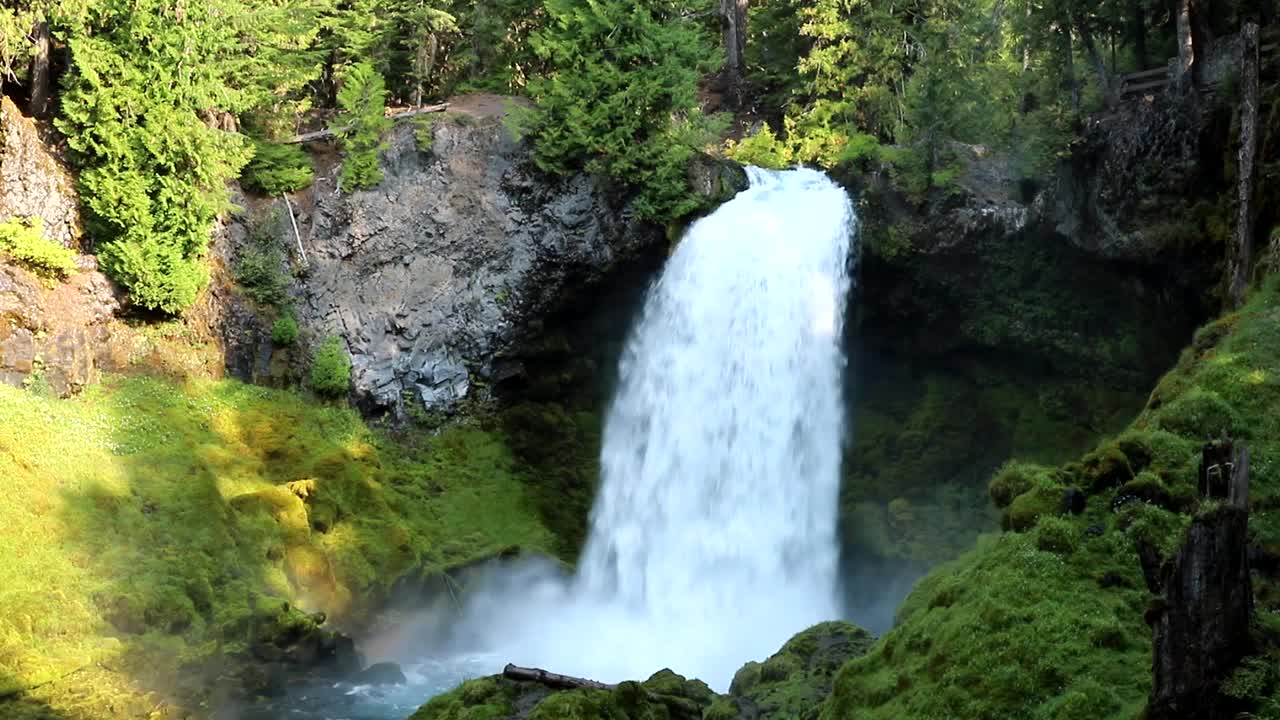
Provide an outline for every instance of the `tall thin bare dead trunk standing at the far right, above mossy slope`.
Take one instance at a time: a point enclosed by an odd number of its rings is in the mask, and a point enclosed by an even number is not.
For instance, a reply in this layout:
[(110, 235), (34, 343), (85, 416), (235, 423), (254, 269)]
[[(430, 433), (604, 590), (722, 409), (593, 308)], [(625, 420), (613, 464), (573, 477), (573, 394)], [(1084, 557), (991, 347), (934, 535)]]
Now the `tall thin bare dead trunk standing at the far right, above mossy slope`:
[(1235, 223), (1235, 255), (1231, 258), (1231, 286), (1228, 293), (1233, 307), (1244, 305), (1253, 263), (1253, 182), (1258, 156), (1258, 26), (1247, 23), (1240, 29), (1240, 163), (1239, 218)]

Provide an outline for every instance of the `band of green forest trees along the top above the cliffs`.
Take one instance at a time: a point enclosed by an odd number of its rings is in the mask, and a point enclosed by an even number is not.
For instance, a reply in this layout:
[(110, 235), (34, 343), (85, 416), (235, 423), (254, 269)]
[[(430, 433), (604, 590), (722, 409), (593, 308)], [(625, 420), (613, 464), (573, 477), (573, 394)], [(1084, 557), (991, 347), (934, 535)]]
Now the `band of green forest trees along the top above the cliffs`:
[[(0, 82), (65, 136), (105, 269), (180, 313), (228, 183), (285, 192), (282, 140), (337, 114), (343, 187), (380, 181), (387, 104), (524, 95), (538, 165), (698, 209), (685, 165), (718, 146), (769, 167), (888, 167), (923, 193), (952, 142), (1033, 178), (1117, 77), (1178, 38), (1238, 27), (1244, 0), (0, 0)], [(1180, 9), (1187, 9), (1185, 17)], [(727, 111), (717, 115), (719, 111)]]

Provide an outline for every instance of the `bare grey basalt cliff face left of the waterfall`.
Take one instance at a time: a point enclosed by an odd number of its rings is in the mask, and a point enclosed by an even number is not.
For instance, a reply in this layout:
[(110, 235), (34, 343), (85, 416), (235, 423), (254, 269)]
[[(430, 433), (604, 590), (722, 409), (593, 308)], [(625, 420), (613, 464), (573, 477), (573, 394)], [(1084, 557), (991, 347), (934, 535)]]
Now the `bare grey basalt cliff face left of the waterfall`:
[(620, 264), (666, 251), (660, 228), (602, 182), (536, 172), (495, 119), (438, 122), (429, 151), (402, 126), (383, 170), (351, 193), (320, 177), (297, 208), (298, 320), (343, 338), (371, 414), (447, 410), (477, 382), (518, 377), (521, 336)]

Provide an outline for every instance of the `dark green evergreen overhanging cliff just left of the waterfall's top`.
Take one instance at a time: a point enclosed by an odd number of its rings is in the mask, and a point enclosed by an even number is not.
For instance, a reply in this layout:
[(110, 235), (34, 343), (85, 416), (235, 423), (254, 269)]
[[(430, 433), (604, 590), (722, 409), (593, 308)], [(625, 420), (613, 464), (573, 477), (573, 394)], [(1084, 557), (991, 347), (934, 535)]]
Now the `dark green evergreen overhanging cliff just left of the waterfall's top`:
[[(530, 83), (540, 168), (596, 172), (640, 190), (640, 211), (675, 219), (698, 206), (685, 179), (701, 120), (698, 81), (714, 67), (703, 28), (669, 0), (547, 0), (532, 46), (549, 72)], [(692, 140), (696, 142), (696, 140)]]

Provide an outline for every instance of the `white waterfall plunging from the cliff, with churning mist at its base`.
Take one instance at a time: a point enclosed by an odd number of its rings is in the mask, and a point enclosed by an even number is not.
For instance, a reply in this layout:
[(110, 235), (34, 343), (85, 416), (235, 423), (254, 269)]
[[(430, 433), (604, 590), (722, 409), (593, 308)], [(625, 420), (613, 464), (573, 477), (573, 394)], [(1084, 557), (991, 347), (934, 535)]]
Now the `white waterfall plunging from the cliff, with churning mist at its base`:
[(579, 574), (508, 575), (471, 606), (504, 660), (607, 682), (671, 667), (723, 691), (838, 615), (852, 209), (814, 170), (750, 177), (650, 290)]

